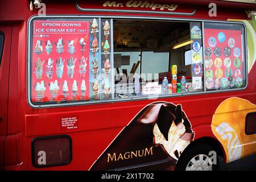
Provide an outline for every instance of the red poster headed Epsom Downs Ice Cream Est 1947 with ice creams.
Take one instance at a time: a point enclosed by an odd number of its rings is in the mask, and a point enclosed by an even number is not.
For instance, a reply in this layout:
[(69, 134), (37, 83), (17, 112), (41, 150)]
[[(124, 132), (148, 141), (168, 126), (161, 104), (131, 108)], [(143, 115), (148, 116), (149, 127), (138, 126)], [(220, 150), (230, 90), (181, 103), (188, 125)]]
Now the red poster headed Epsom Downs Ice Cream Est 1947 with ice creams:
[(34, 21), (32, 102), (89, 99), (89, 32), (89, 21)]

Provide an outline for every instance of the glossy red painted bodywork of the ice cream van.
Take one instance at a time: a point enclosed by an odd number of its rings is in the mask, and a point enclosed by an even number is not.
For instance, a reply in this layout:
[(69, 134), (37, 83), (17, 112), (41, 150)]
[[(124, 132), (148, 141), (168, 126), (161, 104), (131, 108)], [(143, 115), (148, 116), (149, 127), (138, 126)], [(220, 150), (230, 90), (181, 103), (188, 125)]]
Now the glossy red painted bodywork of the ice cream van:
[[(126, 14), (126, 13), (84, 13), (76, 9), (72, 1), (44, 1), (47, 14), (71, 15), (129, 15), (129, 16), (158, 16), (170, 18), (193, 19), (247, 19), (244, 9), (218, 8), (217, 17), (208, 16), (208, 5), (196, 7), (193, 16), (154, 15), (154, 14)], [(167, 2), (167, 1), (165, 1)], [(170, 2), (170, 1), (168, 1)], [(185, 2), (185, 1), (184, 1)], [(188, 1), (186, 1), (188, 2)], [(189, 1), (190, 2), (190, 1)], [(199, 1), (197, 1), (199, 2)], [(233, 5), (230, 3), (230, 5)], [(250, 5), (253, 7), (254, 5)], [(22, 8), (20, 8), (22, 7)], [(42, 168), (42, 170), (86, 170), (101, 155), (117, 134), (133, 119), (133, 117), (147, 104), (154, 101), (167, 101), (181, 104), (189, 121), (195, 130), (195, 139), (212, 137), (210, 123), (212, 114), (217, 106), (226, 98), (237, 96), (256, 103), (256, 65), (249, 74), (248, 87), (243, 91), (200, 94), (193, 96), (171, 97), (160, 100), (142, 100), (129, 102), (113, 102), (108, 104), (94, 104), (81, 106), (56, 107), (48, 109), (33, 109), (27, 103), (27, 22), (37, 10), (29, 10), (27, 0), (0, 2), (0, 30), (5, 32), (5, 48), (0, 68), (1, 110), (3, 121), (0, 122), (1, 144), (5, 135), (16, 135), (17, 162), (8, 163), (7, 170), (36, 170), (31, 163), (31, 141), (35, 137), (68, 134), (72, 138), (73, 158), (67, 166)], [(4, 24), (4, 26), (3, 26)], [(13, 32), (12, 32), (13, 28)], [(13, 37), (11, 37), (13, 36)], [(10, 54), (11, 48), (11, 54)], [(9, 61), (10, 60), (10, 61)], [(9, 74), (10, 67), (10, 74)], [(9, 74), (9, 76), (8, 76)], [(5, 79), (3, 79), (3, 77)], [(9, 82), (9, 84), (8, 84)], [(9, 89), (8, 89), (9, 87)], [(8, 93), (9, 90), (9, 93)], [(9, 94), (9, 100), (7, 96)], [(7, 105), (8, 102), (8, 105)], [(7, 125), (8, 106), (8, 127)], [(78, 129), (63, 131), (60, 119), (63, 117), (77, 117)], [(4, 131), (5, 130), (5, 131)], [(11, 144), (7, 144), (11, 145)], [(13, 147), (10, 147), (13, 148)], [(12, 149), (13, 150), (13, 149)], [(2, 151), (2, 150), (0, 150)], [(7, 155), (10, 151), (6, 151)], [(1, 155), (1, 153), (0, 153)], [(13, 153), (11, 154), (13, 155)], [(0, 160), (2, 166), (2, 161)], [(19, 164), (19, 165), (17, 165)]]

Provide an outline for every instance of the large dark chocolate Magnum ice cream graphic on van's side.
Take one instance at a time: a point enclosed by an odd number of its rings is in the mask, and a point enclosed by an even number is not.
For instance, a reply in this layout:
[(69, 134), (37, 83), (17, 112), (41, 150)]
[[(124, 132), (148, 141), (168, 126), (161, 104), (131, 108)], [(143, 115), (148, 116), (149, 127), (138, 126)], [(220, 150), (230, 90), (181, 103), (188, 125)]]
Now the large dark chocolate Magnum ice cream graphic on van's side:
[(90, 170), (172, 168), (193, 137), (181, 105), (154, 102), (139, 111)]

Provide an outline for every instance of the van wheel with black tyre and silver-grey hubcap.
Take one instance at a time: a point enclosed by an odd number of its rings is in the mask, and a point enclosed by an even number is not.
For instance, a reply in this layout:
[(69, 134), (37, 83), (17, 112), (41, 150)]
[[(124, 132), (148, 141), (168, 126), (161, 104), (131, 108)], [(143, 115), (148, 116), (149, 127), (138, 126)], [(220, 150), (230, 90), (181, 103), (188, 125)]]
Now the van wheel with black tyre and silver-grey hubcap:
[[(216, 171), (218, 169), (218, 156), (212, 155), (213, 147), (197, 143), (185, 150), (175, 167), (177, 171)], [(216, 154), (216, 153), (215, 153)]]

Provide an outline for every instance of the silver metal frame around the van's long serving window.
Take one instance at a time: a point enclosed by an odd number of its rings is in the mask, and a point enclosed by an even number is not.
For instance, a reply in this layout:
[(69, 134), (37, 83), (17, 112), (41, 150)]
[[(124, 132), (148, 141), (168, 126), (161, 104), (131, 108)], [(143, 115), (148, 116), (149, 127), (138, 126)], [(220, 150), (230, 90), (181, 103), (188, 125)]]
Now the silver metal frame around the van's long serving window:
[[(206, 90), (206, 86), (204, 84), (204, 89), (202, 92), (187, 92), (187, 93), (175, 93), (175, 94), (166, 94), (166, 95), (150, 95), (150, 96), (139, 96), (139, 97), (130, 97), (130, 98), (114, 98), (109, 100), (98, 100), (98, 101), (79, 101), (79, 102), (67, 102), (67, 103), (52, 103), (52, 104), (33, 104), (31, 102), (31, 61), (32, 61), (32, 22), (35, 19), (82, 19), (82, 18), (99, 18), (99, 19), (110, 19), (110, 25), (113, 27), (113, 19), (131, 19), (131, 20), (163, 20), (163, 21), (177, 21), (177, 22), (200, 22), (201, 23), (201, 31), (202, 31), (202, 42), (203, 42), (203, 63), (204, 63), (204, 56), (205, 56), (205, 45), (204, 45), (204, 23), (205, 22), (212, 22), (212, 23), (226, 23), (226, 24), (241, 24), (244, 28), (244, 35), (243, 35), (243, 47), (244, 47), (244, 57), (245, 57), (245, 79), (246, 84), (242, 88), (234, 88), (234, 89), (223, 89), (223, 90)], [(199, 94), (211, 94), (211, 93), (222, 93), (222, 92), (234, 92), (238, 90), (245, 90), (248, 85), (248, 72), (247, 72), (247, 34), (246, 34), (246, 26), (243, 22), (236, 22), (236, 21), (223, 21), (223, 20), (205, 20), (205, 19), (188, 19), (188, 18), (162, 18), (162, 17), (146, 17), (146, 16), (103, 16), (103, 15), (46, 15), (46, 16), (39, 16), (34, 15), (28, 19), (27, 24), (27, 102), (32, 108), (47, 108), (47, 107), (61, 107), (61, 106), (81, 106), (81, 105), (92, 105), (92, 104), (105, 104), (105, 103), (113, 103), (113, 102), (126, 102), (126, 101), (139, 101), (139, 100), (146, 100), (148, 98), (171, 98), (171, 97), (183, 97), (183, 96), (193, 96)], [(113, 44), (113, 28), (110, 29), (110, 36), (111, 45)], [(114, 61), (114, 48), (113, 46), (110, 47), (111, 59), (112, 62)], [(113, 65), (113, 64), (112, 64)], [(114, 70), (112, 70), (113, 73)], [(204, 73), (205, 77), (205, 64), (204, 64)], [(112, 79), (113, 79), (112, 74)], [(113, 80), (112, 80), (113, 81)], [(203, 80), (204, 81), (204, 80)], [(113, 88), (114, 85), (112, 85)]]

